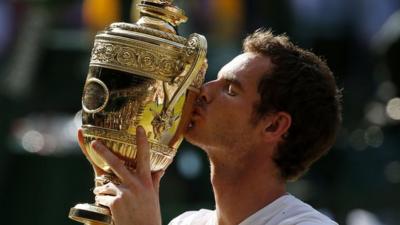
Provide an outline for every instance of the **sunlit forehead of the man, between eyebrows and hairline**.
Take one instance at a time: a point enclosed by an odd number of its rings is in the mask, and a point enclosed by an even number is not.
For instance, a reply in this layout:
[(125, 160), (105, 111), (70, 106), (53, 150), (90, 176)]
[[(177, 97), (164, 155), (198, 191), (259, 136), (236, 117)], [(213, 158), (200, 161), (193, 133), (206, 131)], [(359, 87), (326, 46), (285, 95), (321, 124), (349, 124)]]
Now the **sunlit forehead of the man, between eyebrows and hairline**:
[(223, 66), (218, 73), (218, 78), (258, 81), (270, 69), (271, 62), (268, 57), (246, 52)]

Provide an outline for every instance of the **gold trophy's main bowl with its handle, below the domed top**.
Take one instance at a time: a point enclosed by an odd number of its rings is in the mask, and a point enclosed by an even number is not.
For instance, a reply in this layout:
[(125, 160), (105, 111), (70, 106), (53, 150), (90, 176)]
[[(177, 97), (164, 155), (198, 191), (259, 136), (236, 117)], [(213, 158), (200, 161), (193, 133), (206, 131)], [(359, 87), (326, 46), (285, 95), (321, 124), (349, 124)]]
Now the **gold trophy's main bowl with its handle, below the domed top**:
[[(137, 26), (118, 23), (112, 27), (117, 31), (96, 36), (82, 96), (83, 133), (89, 156), (109, 171), (90, 146), (91, 141), (99, 139), (127, 166), (134, 167), (134, 135), (140, 125), (151, 143), (151, 169), (166, 169), (182, 141), (194, 95), (204, 80), (200, 69), (205, 61), (205, 39), (195, 34), (182, 45), (172, 43), (169, 35), (166, 43), (155, 45), (117, 36), (128, 36)], [(121, 31), (126, 27), (129, 30)], [(153, 41), (160, 40), (155, 37)], [(191, 98), (187, 98), (189, 93)]]

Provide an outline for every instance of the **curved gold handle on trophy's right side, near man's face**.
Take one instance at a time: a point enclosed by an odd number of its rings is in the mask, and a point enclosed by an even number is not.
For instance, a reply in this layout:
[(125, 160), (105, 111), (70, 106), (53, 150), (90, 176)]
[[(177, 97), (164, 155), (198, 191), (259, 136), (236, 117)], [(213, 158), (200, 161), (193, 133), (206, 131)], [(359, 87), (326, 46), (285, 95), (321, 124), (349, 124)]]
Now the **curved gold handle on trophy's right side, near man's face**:
[[(202, 65), (204, 64), (206, 53), (206, 38), (200, 34), (191, 34), (183, 50), (183, 60), (186, 62), (187, 66), (182, 72), (183, 77), (178, 76), (178, 78), (182, 78), (182, 81), (180, 81), (178, 89), (174, 92), (170, 101), (167, 103), (167, 106), (165, 107), (166, 112), (171, 112), (179, 98), (186, 92), (193, 81), (198, 80), (196, 78), (202, 68)], [(200, 80), (202, 81), (202, 79)]]

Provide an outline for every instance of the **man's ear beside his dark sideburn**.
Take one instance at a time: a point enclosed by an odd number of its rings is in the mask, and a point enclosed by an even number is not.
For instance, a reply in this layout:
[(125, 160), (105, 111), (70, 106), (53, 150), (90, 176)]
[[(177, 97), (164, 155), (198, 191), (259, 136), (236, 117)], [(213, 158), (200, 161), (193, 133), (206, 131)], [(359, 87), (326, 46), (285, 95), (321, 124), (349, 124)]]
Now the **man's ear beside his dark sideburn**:
[(286, 112), (266, 116), (263, 136), (266, 141), (281, 140), (292, 125), (292, 117)]

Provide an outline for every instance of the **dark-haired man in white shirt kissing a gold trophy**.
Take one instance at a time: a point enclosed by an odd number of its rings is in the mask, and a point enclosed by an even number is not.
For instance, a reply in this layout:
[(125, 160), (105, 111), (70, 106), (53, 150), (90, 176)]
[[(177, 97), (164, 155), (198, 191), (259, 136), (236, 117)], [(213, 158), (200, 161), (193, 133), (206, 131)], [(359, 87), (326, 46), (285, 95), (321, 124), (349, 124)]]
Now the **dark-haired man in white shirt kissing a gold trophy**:
[[(336, 224), (286, 192), (286, 182), (334, 143), (341, 117), (332, 72), (313, 53), (270, 31), (248, 36), (243, 49), (203, 85), (185, 135), (208, 155), (216, 208), (186, 212), (170, 224)], [(163, 172), (150, 172), (141, 127), (137, 139), (135, 172), (100, 142), (92, 143), (122, 181), (95, 188), (96, 202), (110, 208), (116, 225), (159, 225)]]

